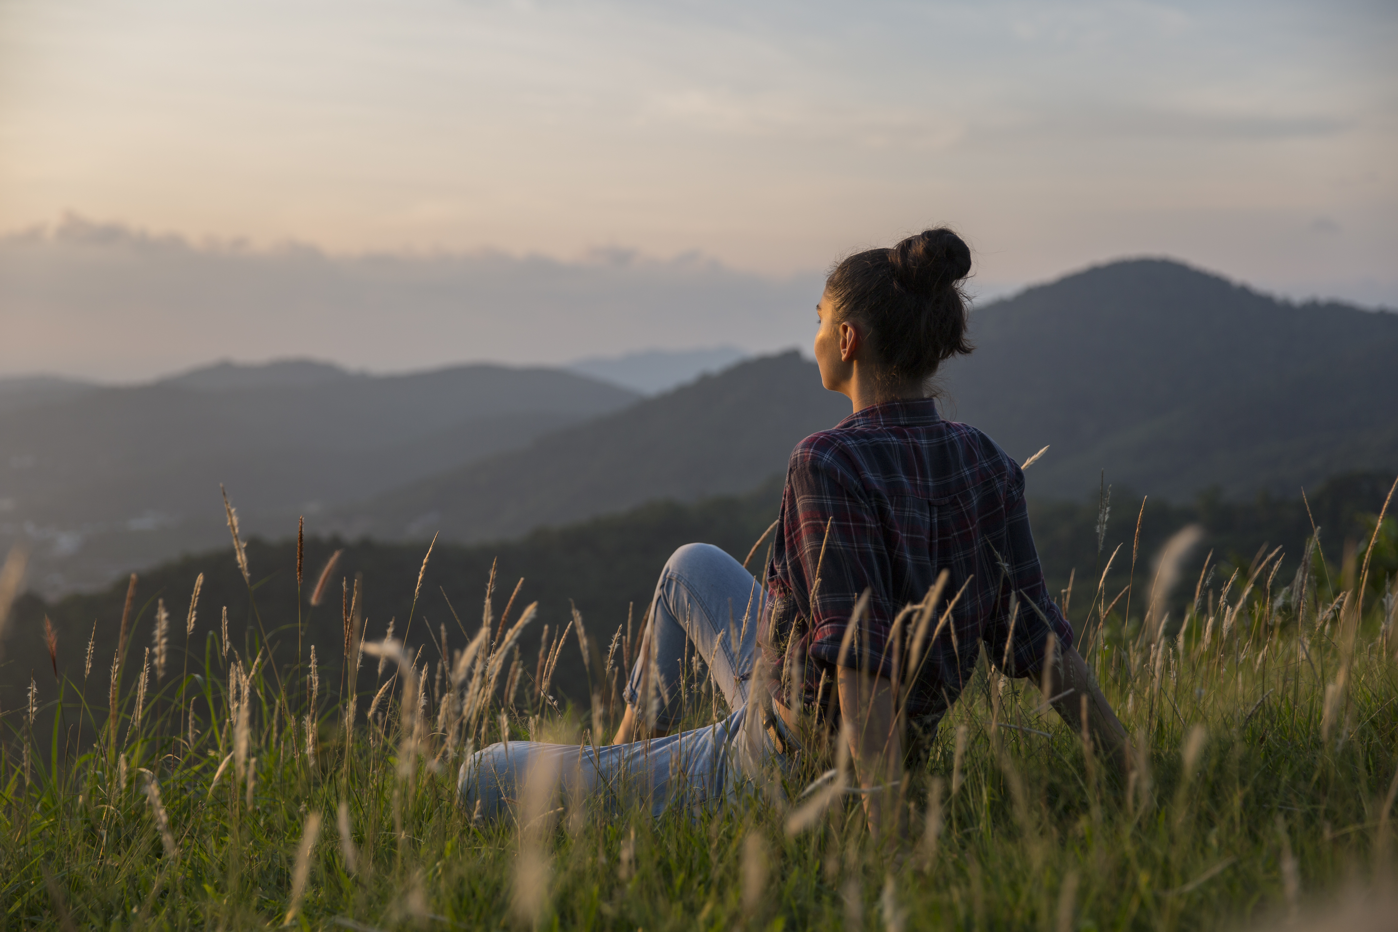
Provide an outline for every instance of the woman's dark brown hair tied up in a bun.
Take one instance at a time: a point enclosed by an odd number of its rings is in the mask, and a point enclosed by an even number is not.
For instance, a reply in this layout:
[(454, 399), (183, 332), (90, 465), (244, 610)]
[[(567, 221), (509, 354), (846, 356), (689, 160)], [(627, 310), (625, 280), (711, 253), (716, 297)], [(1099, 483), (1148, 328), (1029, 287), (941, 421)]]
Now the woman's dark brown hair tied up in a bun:
[(830, 272), (825, 289), (836, 323), (854, 319), (868, 328), (881, 398), (925, 387), (944, 361), (972, 351), (962, 291), (969, 274), (970, 247), (945, 226), (856, 253)]

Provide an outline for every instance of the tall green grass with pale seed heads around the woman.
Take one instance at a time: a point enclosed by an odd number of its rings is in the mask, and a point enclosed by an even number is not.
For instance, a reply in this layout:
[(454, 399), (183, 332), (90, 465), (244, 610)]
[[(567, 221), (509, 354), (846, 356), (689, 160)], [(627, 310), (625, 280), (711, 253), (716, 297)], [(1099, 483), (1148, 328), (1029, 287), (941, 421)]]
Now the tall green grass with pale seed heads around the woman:
[[(819, 762), (769, 773), (731, 806), (660, 820), (559, 799), (542, 777), (500, 822), (457, 803), (460, 764), (485, 743), (604, 741), (639, 632), (607, 639), (604, 658), (575, 612), (530, 664), (517, 639), (533, 606), (496, 618), (488, 594), (480, 623), (457, 619), (410, 655), (396, 640), (361, 641), (345, 583), (338, 661), (323, 650), (275, 671), (261, 615), (239, 644), (199, 626), (192, 605), (187, 667), (165, 665), (187, 671), (178, 679), (130, 669), (147, 648), (124, 637), (110, 682), (98, 664), (95, 678), (89, 665), (82, 682), (52, 685), (49, 734), (34, 732), (34, 708), (4, 713), (0, 922), (1174, 929), (1285, 918), (1395, 876), (1398, 599), (1392, 584), (1385, 599), (1362, 598), (1355, 553), (1332, 571), (1313, 542), (1290, 578), (1281, 559), (1201, 576), (1177, 619), (1167, 606), (1180, 602), (1159, 588), (1167, 566), (1135, 599), (1141, 616), (1118, 613), (1116, 592), (1090, 595), (1083, 653), (1131, 732), (1128, 777), (1061, 724), (1039, 683), (981, 657), (925, 773), (885, 788), (906, 833), (877, 836), (844, 789), (843, 759), (804, 796)], [(408, 623), (418, 595), (405, 594)], [(274, 632), (295, 627), (294, 608), (267, 608), (285, 622)], [(575, 650), (569, 626), (593, 682), (577, 706), (548, 687), (559, 651)], [(365, 655), (379, 673), (361, 696), (344, 683)], [(702, 671), (685, 694), (688, 724), (724, 714)], [(66, 742), (75, 722), (96, 736), (89, 746)]]

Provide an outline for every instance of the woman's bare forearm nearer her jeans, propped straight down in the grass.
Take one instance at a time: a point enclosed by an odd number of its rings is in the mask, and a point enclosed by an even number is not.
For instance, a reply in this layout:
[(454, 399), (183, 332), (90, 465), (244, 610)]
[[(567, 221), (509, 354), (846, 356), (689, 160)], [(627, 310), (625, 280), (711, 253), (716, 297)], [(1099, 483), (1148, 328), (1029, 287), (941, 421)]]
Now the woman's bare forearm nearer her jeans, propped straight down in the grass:
[(875, 676), (842, 667), (836, 676), (840, 694), (840, 718), (850, 728), (850, 755), (854, 774), (864, 794), (864, 815), (870, 831), (884, 827), (888, 808), (884, 796), (903, 763), (903, 734), (893, 717), (893, 685)]

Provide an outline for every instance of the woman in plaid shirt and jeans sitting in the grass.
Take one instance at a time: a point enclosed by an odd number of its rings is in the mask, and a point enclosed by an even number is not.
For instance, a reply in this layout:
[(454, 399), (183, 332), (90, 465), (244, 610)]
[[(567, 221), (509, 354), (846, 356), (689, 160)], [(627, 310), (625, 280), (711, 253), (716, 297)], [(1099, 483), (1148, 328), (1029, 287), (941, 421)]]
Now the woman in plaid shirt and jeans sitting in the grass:
[[(877, 827), (879, 788), (925, 766), (981, 644), (1005, 675), (1039, 678), (1124, 766), (1121, 724), (1048, 598), (1023, 472), (976, 428), (942, 419), (928, 390), (944, 361), (972, 351), (970, 265), (956, 233), (928, 229), (830, 272), (815, 359), (854, 412), (791, 453), (763, 581), (719, 548), (675, 551), (614, 743), (487, 748), (461, 769), (468, 806), (496, 815), (547, 771), (573, 794), (640, 795), (658, 815), (843, 743)], [(733, 711), (671, 734), (691, 650)]]

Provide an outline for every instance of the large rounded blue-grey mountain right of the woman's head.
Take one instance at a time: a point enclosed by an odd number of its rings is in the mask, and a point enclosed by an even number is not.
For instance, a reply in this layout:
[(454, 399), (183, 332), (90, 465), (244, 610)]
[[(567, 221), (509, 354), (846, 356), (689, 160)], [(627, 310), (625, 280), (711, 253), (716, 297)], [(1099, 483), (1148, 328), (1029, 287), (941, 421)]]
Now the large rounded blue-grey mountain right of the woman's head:
[(1011, 456), (1051, 449), (1032, 495), (1295, 495), (1398, 467), (1398, 314), (1292, 305), (1187, 265), (1120, 261), (987, 305), (948, 409)]

